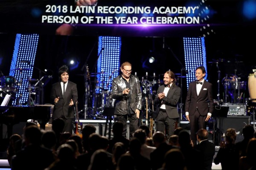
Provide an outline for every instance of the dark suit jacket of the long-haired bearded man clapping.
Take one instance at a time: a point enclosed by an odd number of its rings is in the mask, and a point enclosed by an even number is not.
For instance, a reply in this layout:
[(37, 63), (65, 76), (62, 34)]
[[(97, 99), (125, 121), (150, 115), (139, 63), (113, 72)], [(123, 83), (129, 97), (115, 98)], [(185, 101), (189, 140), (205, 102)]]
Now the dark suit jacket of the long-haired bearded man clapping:
[[(157, 89), (157, 96), (159, 93), (162, 93), (164, 91), (164, 88), (165, 88), (165, 86), (161, 85)], [(178, 109), (177, 109), (177, 103), (179, 102), (179, 99), (180, 99), (180, 87), (178, 87), (177, 85), (175, 85), (175, 83), (173, 83), (172, 86), (170, 87), (166, 97), (164, 97), (162, 100), (159, 100), (157, 96), (155, 99), (155, 103), (158, 104), (157, 105), (157, 114), (159, 113), (162, 101), (164, 101), (165, 105), (166, 105), (167, 116), (170, 119), (178, 118), (179, 113), (178, 113)]]

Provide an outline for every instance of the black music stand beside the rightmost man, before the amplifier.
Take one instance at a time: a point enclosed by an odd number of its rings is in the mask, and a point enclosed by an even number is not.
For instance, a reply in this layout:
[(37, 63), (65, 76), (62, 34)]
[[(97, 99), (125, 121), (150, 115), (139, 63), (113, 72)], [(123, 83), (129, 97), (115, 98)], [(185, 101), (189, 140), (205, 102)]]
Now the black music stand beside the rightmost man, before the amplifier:
[[(213, 142), (215, 143), (215, 136), (217, 137), (217, 141), (215, 145), (218, 145), (221, 140), (221, 135), (224, 133), (223, 130), (223, 119), (227, 118), (227, 113), (229, 111), (229, 106), (224, 106), (224, 105), (216, 105), (215, 109), (212, 113), (212, 118), (213, 118)], [(215, 130), (215, 119), (217, 120), (217, 129)], [(217, 134), (215, 134), (215, 131)]]

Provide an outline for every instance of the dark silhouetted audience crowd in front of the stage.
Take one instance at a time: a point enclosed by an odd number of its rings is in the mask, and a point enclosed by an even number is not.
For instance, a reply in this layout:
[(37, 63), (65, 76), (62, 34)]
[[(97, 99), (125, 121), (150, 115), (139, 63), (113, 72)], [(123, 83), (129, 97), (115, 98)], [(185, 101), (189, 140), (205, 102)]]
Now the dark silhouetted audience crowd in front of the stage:
[[(112, 139), (96, 133), (96, 127), (89, 124), (84, 126), (81, 138), (56, 127), (62, 125), (61, 119), (54, 121), (52, 130), (40, 130), (35, 122), (28, 122), (22, 137), (10, 137), (7, 156), (12, 170), (211, 170), (212, 161), (221, 163), (223, 170), (256, 167), (251, 125), (244, 126), (244, 140), (236, 144), (235, 129), (227, 129), (226, 141), (220, 143), (214, 158), (215, 144), (208, 140), (205, 129), (198, 130), (198, 145), (193, 147), (189, 132), (182, 127), (176, 128), (167, 141), (162, 132), (150, 138), (148, 128), (141, 125), (129, 140), (122, 136), (122, 122), (113, 124)], [(147, 139), (152, 139), (154, 147), (146, 144)]]

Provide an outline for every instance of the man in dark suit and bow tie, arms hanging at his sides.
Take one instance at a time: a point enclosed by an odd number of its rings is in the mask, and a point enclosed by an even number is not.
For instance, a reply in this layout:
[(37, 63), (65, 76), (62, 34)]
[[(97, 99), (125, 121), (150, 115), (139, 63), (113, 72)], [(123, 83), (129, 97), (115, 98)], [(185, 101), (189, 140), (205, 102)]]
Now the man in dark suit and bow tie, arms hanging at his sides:
[(205, 74), (204, 66), (195, 69), (197, 80), (189, 83), (185, 102), (186, 119), (190, 122), (190, 137), (194, 145), (197, 142), (196, 132), (206, 129), (214, 110), (212, 84), (204, 79)]

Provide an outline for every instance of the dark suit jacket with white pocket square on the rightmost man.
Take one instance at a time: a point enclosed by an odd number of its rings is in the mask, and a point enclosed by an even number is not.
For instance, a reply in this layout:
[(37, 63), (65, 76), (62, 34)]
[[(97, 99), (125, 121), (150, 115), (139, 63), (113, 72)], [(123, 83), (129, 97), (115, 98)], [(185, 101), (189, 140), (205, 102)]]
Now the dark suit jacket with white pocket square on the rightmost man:
[(207, 113), (212, 113), (214, 110), (212, 84), (204, 80), (203, 86), (199, 94), (196, 92), (196, 81), (189, 83), (189, 90), (186, 96), (185, 112), (193, 115), (198, 108), (201, 116), (206, 116)]

